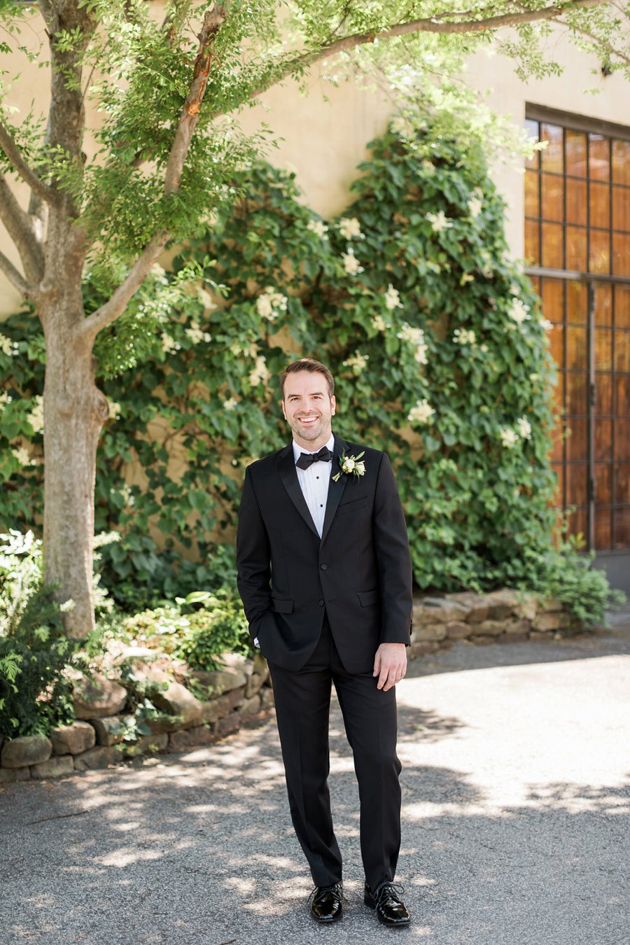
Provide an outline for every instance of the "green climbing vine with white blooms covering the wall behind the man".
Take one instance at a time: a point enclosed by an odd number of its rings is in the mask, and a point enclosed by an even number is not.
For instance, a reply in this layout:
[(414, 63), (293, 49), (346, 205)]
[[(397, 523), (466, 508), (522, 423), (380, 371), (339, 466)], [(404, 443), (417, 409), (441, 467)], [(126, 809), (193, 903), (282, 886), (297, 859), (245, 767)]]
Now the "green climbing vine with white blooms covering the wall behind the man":
[[(123, 536), (102, 556), (128, 606), (231, 579), (243, 471), (286, 441), (277, 378), (302, 355), (333, 371), (337, 431), (391, 456), (421, 589), (534, 587), (547, 567), (553, 363), (482, 149), (414, 116), (370, 148), (332, 220), (292, 175), (243, 171), (233, 213), (203, 221), (99, 337), (114, 406), (96, 529)], [(44, 353), (35, 318), (2, 331), (6, 529), (41, 515)]]

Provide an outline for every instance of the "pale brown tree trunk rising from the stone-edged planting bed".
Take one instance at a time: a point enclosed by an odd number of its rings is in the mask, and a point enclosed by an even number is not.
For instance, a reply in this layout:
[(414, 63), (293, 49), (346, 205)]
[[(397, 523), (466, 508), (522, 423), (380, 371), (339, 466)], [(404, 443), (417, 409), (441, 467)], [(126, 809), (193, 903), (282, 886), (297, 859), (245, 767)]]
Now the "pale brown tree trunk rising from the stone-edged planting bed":
[(66, 291), (56, 288), (39, 308), (46, 339), (44, 578), (58, 585), (61, 603), (74, 601), (64, 612), (64, 626), (69, 636), (83, 638), (94, 628), (94, 473), (109, 408), (94, 383), (93, 339), (77, 332), (84, 318), (80, 269), (74, 292), (67, 283)]

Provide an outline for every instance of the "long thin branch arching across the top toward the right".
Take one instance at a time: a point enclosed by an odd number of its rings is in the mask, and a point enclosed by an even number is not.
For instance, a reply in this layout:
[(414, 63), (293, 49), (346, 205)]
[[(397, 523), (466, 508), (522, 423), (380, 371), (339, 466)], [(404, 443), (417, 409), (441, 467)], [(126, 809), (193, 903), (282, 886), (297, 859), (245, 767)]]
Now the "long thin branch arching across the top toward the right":
[[(573, 12), (587, 7), (599, 7), (607, 3), (608, 0), (570, 0), (568, 3), (553, 4), (551, 7), (543, 9), (532, 9), (523, 12), (502, 13), (499, 16), (490, 16), (487, 19), (480, 20), (459, 20), (452, 23), (448, 17), (460, 17), (461, 12), (442, 13), (438, 16), (421, 20), (409, 20), (405, 23), (399, 23), (384, 29), (380, 33), (354, 33), (351, 36), (344, 36), (341, 39), (327, 43), (319, 49), (311, 50), (296, 56), (289, 60), (285, 68), (279, 75), (271, 75), (266, 82), (256, 89), (250, 98), (257, 98), (258, 95), (267, 92), (274, 85), (277, 85), (283, 79), (289, 77), (293, 72), (305, 67), (311, 67), (318, 60), (327, 57), (336, 56), (338, 53), (346, 52), (357, 46), (366, 43), (374, 43), (375, 40), (389, 40), (397, 36), (407, 36), (412, 33), (484, 33), (490, 30), (501, 29), (504, 26), (520, 26), (526, 23), (536, 23), (538, 20), (553, 20), (562, 16), (563, 13)], [(213, 112), (213, 118), (218, 118), (223, 112)]]

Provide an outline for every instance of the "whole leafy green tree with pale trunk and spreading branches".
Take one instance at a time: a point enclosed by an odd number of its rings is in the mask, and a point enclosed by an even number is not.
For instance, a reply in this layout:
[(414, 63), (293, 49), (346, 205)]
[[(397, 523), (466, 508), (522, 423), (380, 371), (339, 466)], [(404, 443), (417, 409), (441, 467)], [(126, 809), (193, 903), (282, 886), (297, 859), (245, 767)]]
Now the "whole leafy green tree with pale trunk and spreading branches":
[[(461, 57), (505, 26), (515, 27), (504, 43), (522, 71), (554, 68), (536, 44), (551, 24), (613, 69), (627, 72), (630, 63), (624, 13), (602, 0), (496, 0), (467, 11), (433, 0), (225, 0), (210, 9), (170, 0), (162, 23), (154, 9), (145, 0), (38, 0), (37, 10), (0, 0), (9, 37), (0, 50), (48, 57), (45, 121), (35, 112), (14, 118), (10, 85), (1, 89), (0, 220), (20, 267), (0, 253), (0, 269), (43, 326), (45, 574), (61, 599), (75, 601), (66, 614), (74, 636), (94, 626), (94, 464), (108, 417), (94, 381), (94, 340), (124, 314), (167, 243), (234, 198), (235, 170), (268, 135), (245, 136), (238, 112), (335, 57), (394, 85), (400, 67), (411, 67), (428, 94), (437, 56), (444, 68), (434, 69), (436, 78), (454, 87)], [(22, 43), (21, 26), (37, 16), (47, 53)], [(86, 101), (102, 115), (90, 132), (91, 159)], [(30, 191), (27, 208), (15, 178)], [(85, 301), (88, 270), (107, 288), (96, 307)]]

